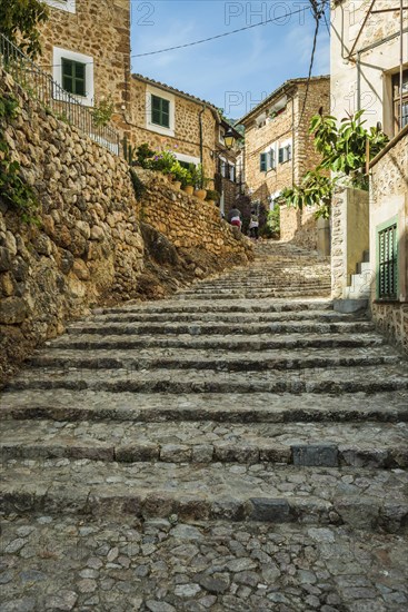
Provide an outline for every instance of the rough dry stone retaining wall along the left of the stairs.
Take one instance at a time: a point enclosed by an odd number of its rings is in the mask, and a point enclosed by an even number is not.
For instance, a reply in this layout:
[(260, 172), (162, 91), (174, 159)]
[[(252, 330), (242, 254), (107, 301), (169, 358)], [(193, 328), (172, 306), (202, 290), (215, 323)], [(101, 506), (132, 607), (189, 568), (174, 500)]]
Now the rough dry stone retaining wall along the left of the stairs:
[[(208, 205), (179, 196), (157, 177), (151, 177), (155, 187), (147, 190), (147, 201), (138, 201), (123, 159), (56, 119), (6, 72), (0, 73), (3, 93), (20, 103), (18, 117), (2, 128), (13, 159), (38, 195), (40, 225), (22, 223), (20, 213), (0, 200), (0, 385), (34, 346), (63, 332), (68, 319), (83, 316), (91, 305), (162, 296), (235, 259), (247, 260), (248, 244), (217, 224)], [(146, 220), (157, 226), (150, 233), (149, 256), (142, 210), (150, 211)], [(179, 266), (177, 284), (166, 285), (152, 265), (160, 239), (172, 254), (167, 276), (172, 264)], [(179, 245), (187, 253), (197, 247), (188, 266), (186, 255), (177, 254)], [(149, 293), (160, 283), (161, 292)]]

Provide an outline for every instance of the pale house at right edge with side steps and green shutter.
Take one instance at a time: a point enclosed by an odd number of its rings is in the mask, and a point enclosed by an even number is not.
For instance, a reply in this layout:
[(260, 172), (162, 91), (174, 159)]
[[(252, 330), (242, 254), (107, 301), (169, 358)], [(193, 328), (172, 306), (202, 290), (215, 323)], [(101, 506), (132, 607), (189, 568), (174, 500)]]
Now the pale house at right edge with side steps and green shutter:
[(397, 4), (337, 0), (332, 11), (331, 113), (365, 109), (367, 126), (390, 138), (370, 165), (369, 193), (335, 195), (332, 293), (369, 299), (374, 320), (407, 349), (408, 11)]

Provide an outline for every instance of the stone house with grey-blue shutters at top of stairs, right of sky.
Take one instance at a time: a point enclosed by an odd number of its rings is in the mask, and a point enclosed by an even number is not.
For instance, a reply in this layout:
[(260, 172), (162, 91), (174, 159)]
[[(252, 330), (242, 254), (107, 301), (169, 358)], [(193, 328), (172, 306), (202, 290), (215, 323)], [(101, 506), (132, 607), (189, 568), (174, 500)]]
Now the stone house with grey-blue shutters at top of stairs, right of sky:
[[(299, 184), (319, 162), (308, 129), (310, 119), (322, 107), (330, 108), (328, 76), (290, 79), (245, 115), (245, 182), (253, 203), (273, 208), (281, 190)], [(306, 100), (306, 101), (305, 101)], [(309, 248), (318, 246), (312, 210), (280, 208), (283, 240)]]

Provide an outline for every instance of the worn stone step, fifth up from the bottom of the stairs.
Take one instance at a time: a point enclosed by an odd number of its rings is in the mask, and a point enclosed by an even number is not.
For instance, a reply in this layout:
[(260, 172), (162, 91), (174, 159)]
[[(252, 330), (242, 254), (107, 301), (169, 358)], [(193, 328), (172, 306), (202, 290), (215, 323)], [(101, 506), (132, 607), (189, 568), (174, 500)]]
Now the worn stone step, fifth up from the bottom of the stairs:
[(62, 349), (38, 352), (27, 362), (37, 368), (82, 369), (212, 369), (222, 372), (292, 371), (306, 368), (336, 368), (399, 364), (401, 357), (388, 346), (327, 348), (299, 348), (281, 351), (248, 351), (230, 353), (226, 349), (197, 351), (179, 348), (140, 348), (126, 353), (121, 349), (101, 348), (97, 354), (88, 351)]

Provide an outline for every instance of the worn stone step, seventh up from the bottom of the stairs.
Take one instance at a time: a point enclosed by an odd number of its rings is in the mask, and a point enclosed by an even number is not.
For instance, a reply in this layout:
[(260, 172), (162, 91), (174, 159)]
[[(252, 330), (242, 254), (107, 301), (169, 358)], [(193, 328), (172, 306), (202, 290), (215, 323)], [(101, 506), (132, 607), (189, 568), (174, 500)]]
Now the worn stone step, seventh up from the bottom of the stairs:
[(105, 323), (84, 320), (72, 324), (68, 327), (69, 334), (103, 334), (103, 335), (136, 335), (136, 334), (160, 334), (160, 335), (226, 335), (226, 334), (361, 334), (372, 332), (374, 324), (367, 320), (340, 320), (340, 322), (270, 322), (252, 323), (223, 323), (222, 320), (211, 323)]

